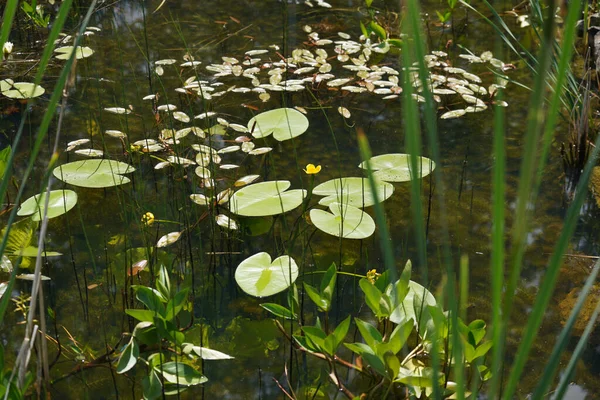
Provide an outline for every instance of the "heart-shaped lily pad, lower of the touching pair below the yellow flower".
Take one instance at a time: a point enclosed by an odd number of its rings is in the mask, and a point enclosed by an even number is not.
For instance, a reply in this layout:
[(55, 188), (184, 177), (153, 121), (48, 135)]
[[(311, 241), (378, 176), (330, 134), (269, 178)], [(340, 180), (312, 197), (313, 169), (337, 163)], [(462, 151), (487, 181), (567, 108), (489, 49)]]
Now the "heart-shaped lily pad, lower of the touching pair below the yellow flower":
[(327, 212), (310, 211), (312, 223), (325, 233), (346, 239), (365, 239), (375, 232), (375, 221), (364, 211), (354, 206), (331, 203)]

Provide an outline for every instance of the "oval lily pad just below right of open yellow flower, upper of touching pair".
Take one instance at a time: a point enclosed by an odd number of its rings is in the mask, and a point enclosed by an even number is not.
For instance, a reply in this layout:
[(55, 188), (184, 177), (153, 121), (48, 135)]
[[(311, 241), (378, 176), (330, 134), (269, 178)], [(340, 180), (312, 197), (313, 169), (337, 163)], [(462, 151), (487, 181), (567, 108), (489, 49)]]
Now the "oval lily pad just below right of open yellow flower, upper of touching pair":
[[(377, 181), (377, 198), (379, 201), (388, 199), (394, 193), (391, 183)], [(369, 207), (375, 204), (371, 184), (367, 178), (336, 178), (323, 182), (313, 189), (319, 196), (327, 196), (319, 204), (328, 206), (331, 203), (349, 204), (354, 207)]]

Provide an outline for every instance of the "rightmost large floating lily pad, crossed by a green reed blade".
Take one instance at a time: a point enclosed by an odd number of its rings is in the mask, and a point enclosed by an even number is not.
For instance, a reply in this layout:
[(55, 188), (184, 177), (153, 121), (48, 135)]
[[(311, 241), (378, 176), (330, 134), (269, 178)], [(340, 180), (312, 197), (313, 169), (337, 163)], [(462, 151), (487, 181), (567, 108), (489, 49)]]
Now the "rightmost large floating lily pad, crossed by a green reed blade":
[[(376, 172), (373, 176), (386, 182), (408, 182), (411, 180), (410, 154), (382, 154), (369, 160), (371, 168)], [(420, 164), (420, 166), (419, 166)], [(366, 169), (366, 162), (358, 165)], [(417, 157), (417, 176), (423, 178), (435, 169), (435, 163), (426, 157)]]

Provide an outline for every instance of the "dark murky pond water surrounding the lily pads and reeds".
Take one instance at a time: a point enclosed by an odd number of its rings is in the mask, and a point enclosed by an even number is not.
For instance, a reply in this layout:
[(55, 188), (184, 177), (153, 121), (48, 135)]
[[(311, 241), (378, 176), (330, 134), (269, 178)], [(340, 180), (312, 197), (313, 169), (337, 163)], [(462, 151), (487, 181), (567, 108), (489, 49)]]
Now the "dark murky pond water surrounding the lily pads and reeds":
[[(368, 19), (361, 1), (331, 1), (333, 8), (327, 9), (275, 0), (167, 0), (156, 13), (152, 12), (153, 9), (144, 8), (142, 3), (121, 1), (102, 6), (94, 14), (91, 25), (101, 28), (101, 31), (85, 39), (94, 54), (79, 60), (76, 88), (65, 110), (61, 132), (64, 148), (70, 141), (90, 139), (91, 143), (81, 148), (89, 145), (103, 150), (106, 158), (129, 162), (136, 171), (128, 175), (131, 183), (119, 187), (73, 189), (64, 185), (75, 190), (79, 200), (72, 211), (50, 221), (47, 249), (60, 251), (64, 255), (49, 258), (44, 267), (44, 274), (52, 279), (45, 286), (46, 304), (55, 315), (50, 320), (52, 335), (58, 332), (62, 345), (73, 347), (69, 340), (69, 335), (72, 335), (80, 348), (72, 354), (65, 354), (63, 350), (53, 368), (53, 377), (65, 376), (73, 371), (77, 366), (75, 353), (81, 351), (81, 357), (89, 361), (116, 346), (122, 332), (132, 331), (135, 324), (123, 312), (134, 304), (126, 285), (147, 284), (150, 274), (142, 272), (139, 277), (129, 277), (127, 270), (132, 263), (149, 259), (148, 269), (156, 270), (160, 263), (169, 267), (173, 272), (173, 286), (191, 287), (193, 310), (189, 314), (193, 315), (196, 326), (188, 336), (195, 337), (196, 343), (235, 357), (233, 360), (206, 361), (203, 373), (209, 381), (186, 391), (182, 397), (282, 398), (274, 379), (282, 383), (286, 381), (284, 366), (289, 361), (289, 343), (277, 330), (268, 313), (259, 307), (265, 300), (250, 297), (239, 289), (234, 280), (236, 267), (242, 260), (260, 251), (275, 257), (289, 250), (292, 228), (294, 224), (301, 223), (302, 234), (290, 254), (297, 261), (301, 274), (325, 270), (332, 262), (349, 273), (364, 275), (371, 269), (381, 272), (384, 266), (377, 234), (364, 240), (340, 240), (315, 230), (314, 226), (303, 221), (298, 211), (286, 218), (242, 219), (238, 221), (242, 224), (242, 229), (238, 231), (219, 227), (214, 223), (215, 215), (209, 215), (206, 207), (193, 203), (189, 198), (192, 193), (209, 193), (208, 189), (201, 187), (201, 179), (194, 176), (194, 167), (184, 169), (170, 166), (156, 170), (154, 166), (160, 159), (166, 158), (166, 151), (151, 155), (139, 148), (128, 148), (125, 144), (157, 139), (161, 129), (170, 124), (168, 113), (155, 114), (152, 101), (142, 98), (158, 93), (160, 98), (157, 105), (175, 104), (189, 115), (214, 110), (218, 112), (218, 117), (230, 124), (242, 126), (246, 126), (253, 116), (262, 111), (283, 106), (307, 110), (310, 126), (302, 136), (284, 142), (272, 138), (255, 140), (257, 147), (272, 147), (270, 153), (257, 156), (242, 152), (222, 154), (222, 164), (238, 164), (240, 167), (218, 172), (220, 179), (217, 186), (220, 190), (235, 179), (249, 174), (261, 175), (261, 181), (289, 180), (292, 188), (304, 189), (340, 176), (364, 176), (364, 172), (358, 168), (361, 159), (357, 128), (365, 132), (374, 155), (404, 153), (401, 101), (382, 99), (384, 95), (374, 93), (349, 93), (326, 86), (325, 82), (307, 84), (310, 92), (303, 90), (284, 94), (267, 91), (270, 98), (265, 101), (259, 98), (259, 93), (232, 91), (212, 99), (197, 98), (190, 102), (187, 95), (175, 91), (175, 88), (182, 86), (183, 80), (194, 76), (192, 69), (179, 67), (188, 52), (195, 60), (202, 62), (196, 70), (197, 78), (214, 83), (217, 80), (213, 76), (215, 72), (208, 71), (206, 66), (223, 64), (224, 56), (242, 61), (254, 57), (245, 56), (247, 51), (267, 49), (268, 53), (257, 56), (263, 59), (262, 64), (280, 61), (280, 54), (289, 55), (295, 48), (314, 51), (317, 46), (309, 43), (305, 26), (318, 32), (320, 38), (339, 40), (338, 32), (345, 32), (356, 39), (361, 34), (359, 21)], [(400, 10), (396, 3), (386, 1), (374, 4), (382, 10), (378, 15), (380, 23), (392, 29), (392, 32), (399, 22)], [(439, 4), (423, 2), (422, 7), (430, 15), (435, 15)], [(465, 51), (456, 46), (460, 44), (475, 54), (491, 50), (494, 47), (492, 30), (476, 15), (465, 13), (464, 10), (456, 13), (454, 21), (453, 29), (442, 29), (433, 17), (430, 18), (428, 33), (431, 50), (446, 51), (447, 59), (454, 66), (478, 74), (487, 84), (492, 83), (490, 70), (459, 58), (458, 55), (465, 54)], [(516, 28), (514, 18), (507, 18), (507, 21), (515, 24), (515, 31), (522, 34), (524, 40), (527, 39), (527, 32)], [(279, 49), (269, 47), (271, 45), (277, 45)], [(19, 46), (18, 42), (16, 46)], [(323, 48), (328, 51), (328, 56), (335, 56), (332, 46), (323, 45)], [(517, 62), (513, 54), (506, 52), (496, 56), (506, 63), (516, 64), (516, 70), (507, 72), (511, 79), (525, 86), (530, 85), (529, 71)], [(387, 54), (378, 60), (380, 65), (394, 68), (399, 65), (398, 57), (397, 54)], [(163, 65), (164, 74), (156, 74), (154, 62), (171, 58), (176, 59), (177, 63)], [(331, 64), (332, 73), (336, 77), (337, 74), (342, 75), (341, 63), (333, 60)], [(58, 71), (60, 65), (56, 62), (48, 71), (43, 86), (52, 87), (53, 76), (56, 75), (54, 72)], [(260, 73), (266, 76), (265, 71)], [(345, 73), (343, 76), (347, 75)], [(233, 85), (238, 88), (252, 87), (250, 80), (244, 77), (227, 76), (219, 80), (225, 82), (222, 86), (225, 89)], [(216, 89), (219, 90), (222, 89)], [(506, 90), (509, 103), (506, 132), (507, 227), (512, 223), (528, 95), (526, 89), (514, 84), (509, 84)], [(33, 127), (39, 123), (45, 101), (43, 98), (33, 109), (30, 138), (33, 137)], [(459, 108), (452, 103), (446, 105)], [(340, 106), (351, 112), (350, 118), (345, 119), (338, 113)], [(104, 111), (108, 107), (124, 107), (133, 112), (115, 115)], [(16, 130), (17, 116), (0, 119), (0, 129), (8, 140)], [(210, 124), (208, 120), (200, 120), (198, 126), (207, 129), (217, 124), (214, 117), (210, 118)], [(444, 177), (443, 196), (447, 215), (439, 214), (437, 197), (432, 195), (440, 190), (441, 184), (433, 185), (431, 176), (424, 178), (422, 201), (427, 218), (428, 281), (422, 281), (424, 274), (416, 262), (408, 182), (394, 183), (394, 194), (384, 203), (395, 257), (399, 267), (412, 259), (412, 279), (431, 287), (435, 292), (444, 274), (445, 267), (440, 254), (445, 240), (443, 227), (447, 225), (453, 258), (458, 261), (461, 255), (469, 257), (469, 320), (481, 318), (489, 323), (492, 111), (469, 113), (461, 118), (438, 122), (441, 159), (437, 168)], [(177, 129), (190, 126), (177, 121), (174, 121), (174, 125)], [(508, 332), (508, 354), (516, 351), (524, 325), (523, 315), (530, 310), (566, 210), (559, 148), (560, 142), (566, 137), (567, 124), (561, 125), (560, 129), (528, 236), (529, 246), (511, 325), (513, 329)], [(125, 132), (127, 140), (104, 134), (107, 130)], [(51, 139), (54, 134), (51, 132)], [(194, 155), (189, 151), (192, 143), (205, 143), (221, 149), (236, 145), (234, 139), (241, 135), (243, 133), (232, 129), (226, 134), (208, 136), (205, 140), (189, 135), (182, 139), (183, 145), (170, 145), (169, 148), (181, 157), (193, 158)], [(29, 153), (27, 149), (32, 143), (33, 140), (19, 150), (16, 177), (25, 168)], [(25, 198), (37, 193), (36, 180), (43, 174), (51, 149), (49, 139), (42, 150), (39, 167), (35, 171), (36, 178), (29, 183)], [(430, 155), (427, 143), (422, 152), (425, 156)], [(81, 159), (84, 157), (63, 151), (60, 163)], [(320, 173), (307, 176), (302, 169), (309, 163), (320, 165)], [(55, 181), (55, 189), (62, 187), (62, 182)], [(145, 227), (140, 219), (147, 212), (151, 212), (156, 221)], [(369, 213), (374, 215), (371, 211)], [(582, 210), (569, 253), (597, 253), (597, 216), (598, 208), (590, 198)], [(2, 218), (4, 223), (5, 217)], [(169, 247), (156, 249), (149, 256), (150, 247), (161, 236), (181, 230), (186, 230), (186, 233), (179, 241)], [(146, 245), (149, 247), (144, 247)], [(521, 395), (529, 393), (537, 382), (544, 367), (542, 360), (547, 359), (566, 319), (565, 312), (572, 307), (571, 297), (577, 293), (576, 289), (581, 286), (591, 264), (592, 260), (583, 258), (565, 259), (564, 273), (554, 301), (547, 311), (534, 354), (522, 378)], [(311, 275), (306, 276), (311, 282)], [(314, 285), (318, 285), (320, 276), (314, 275)], [(27, 282), (20, 282), (17, 289), (25, 291), (28, 285)], [(360, 296), (357, 279), (340, 277), (335, 293), (336, 306), (332, 312), (335, 322), (341, 321), (347, 313), (364, 314), (364, 310), (359, 309), (363, 303)], [(285, 304), (285, 297), (276, 295), (268, 301)], [(11, 313), (2, 328), (2, 340), (12, 351), (18, 348), (22, 337), (22, 326), (16, 325), (19, 317), (19, 314)], [(307, 311), (305, 317), (314, 319), (314, 311)], [(594, 335), (573, 378), (579, 391), (572, 393), (579, 393), (577, 397), (594, 397), (594, 393), (600, 393), (600, 382), (596, 379), (600, 365), (597, 348), (594, 348), (599, 342), (598, 335)], [(52, 355), (56, 354), (56, 347), (50, 346)], [(573, 347), (574, 344), (571, 349)], [(567, 351), (565, 359), (569, 355), (570, 351)], [(319, 374), (324, 374), (325, 369), (319, 362), (311, 361), (306, 369), (301, 361), (296, 360), (296, 364), (293, 364), (296, 370), (290, 371), (292, 376), (300, 376), (300, 379), (309, 383), (317, 381)], [(322, 380), (327, 382), (326, 377)], [(356, 387), (361, 385), (360, 382), (354, 384)], [(141, 397), (139, 380), (134, 380), (133, 376), (129, 379), (122, 376), (115, 378), (106, 366), (85, 369), (65, 377), (53, 386), (53, 390), (55, 397), (59, 398)], [(330, 387), (326, 390), (333, 393)]]

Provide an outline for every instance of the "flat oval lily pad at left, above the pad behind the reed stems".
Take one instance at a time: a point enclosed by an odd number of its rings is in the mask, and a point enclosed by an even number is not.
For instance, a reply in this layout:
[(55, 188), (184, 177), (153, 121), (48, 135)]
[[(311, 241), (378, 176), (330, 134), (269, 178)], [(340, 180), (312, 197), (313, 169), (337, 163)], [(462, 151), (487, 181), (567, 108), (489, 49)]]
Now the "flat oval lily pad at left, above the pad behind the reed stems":
[(56, 167), (55, 177), (74, 186), (106, 188), (129, 182), (122, 174), (135, 171), (131, 165), (114, 160), (81, 160)]

